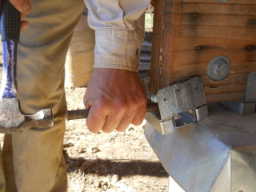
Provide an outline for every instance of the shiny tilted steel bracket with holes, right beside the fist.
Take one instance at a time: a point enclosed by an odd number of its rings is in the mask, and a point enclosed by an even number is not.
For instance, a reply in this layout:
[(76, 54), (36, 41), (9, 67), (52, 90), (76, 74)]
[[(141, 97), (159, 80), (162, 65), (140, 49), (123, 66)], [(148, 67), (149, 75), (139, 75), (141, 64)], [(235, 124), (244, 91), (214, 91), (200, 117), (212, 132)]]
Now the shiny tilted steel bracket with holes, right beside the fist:
[(201, 121), (209, 116), (201, 78), (192, 78), (158, 90), (159, 113), (147, 113), (146, 120), (161, 134)]

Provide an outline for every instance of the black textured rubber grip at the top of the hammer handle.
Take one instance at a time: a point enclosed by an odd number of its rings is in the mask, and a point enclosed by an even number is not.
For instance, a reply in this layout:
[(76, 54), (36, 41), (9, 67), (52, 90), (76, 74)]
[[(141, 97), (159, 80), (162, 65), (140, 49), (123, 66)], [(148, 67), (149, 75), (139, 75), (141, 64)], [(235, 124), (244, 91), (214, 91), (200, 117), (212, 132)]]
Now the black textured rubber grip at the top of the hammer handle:
[(2, 42), (19, 41), (21, 14), (10, 4), (9, 0), (1, 0), (1, 32)]

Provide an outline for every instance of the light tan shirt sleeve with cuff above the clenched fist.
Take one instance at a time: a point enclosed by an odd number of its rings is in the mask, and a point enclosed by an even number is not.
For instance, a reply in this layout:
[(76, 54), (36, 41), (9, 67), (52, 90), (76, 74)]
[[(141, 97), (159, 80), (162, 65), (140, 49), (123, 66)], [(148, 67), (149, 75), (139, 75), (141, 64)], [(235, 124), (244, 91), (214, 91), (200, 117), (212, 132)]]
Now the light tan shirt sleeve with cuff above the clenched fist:
[(150, 0), (85, 0), (95, 30), (94, 67), (138, 71)]

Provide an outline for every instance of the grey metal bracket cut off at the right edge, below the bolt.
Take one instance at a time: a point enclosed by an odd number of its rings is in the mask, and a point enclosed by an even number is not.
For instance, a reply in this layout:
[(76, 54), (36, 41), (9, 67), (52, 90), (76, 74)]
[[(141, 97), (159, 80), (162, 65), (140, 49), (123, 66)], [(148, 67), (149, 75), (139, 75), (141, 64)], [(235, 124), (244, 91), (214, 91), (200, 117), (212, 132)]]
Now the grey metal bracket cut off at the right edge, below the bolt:
[(222, 102), (237, 114), (254, 114), (256, 112), (256, 71), (250, 72), (246, 84), (246, 96), (243, 102)]

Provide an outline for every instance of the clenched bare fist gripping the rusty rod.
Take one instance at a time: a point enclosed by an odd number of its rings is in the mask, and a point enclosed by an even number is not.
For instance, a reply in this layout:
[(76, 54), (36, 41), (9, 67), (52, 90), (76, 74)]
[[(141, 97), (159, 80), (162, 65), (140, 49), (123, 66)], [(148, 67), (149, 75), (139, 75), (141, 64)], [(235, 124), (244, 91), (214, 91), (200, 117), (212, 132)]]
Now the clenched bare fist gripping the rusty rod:
[(138, 126), (146, 114), (146, 94), (138, 75), (129, 70), (95, 68), (84, 104), (90, 108), (86, 125), (92, 133), (124, 131)]

